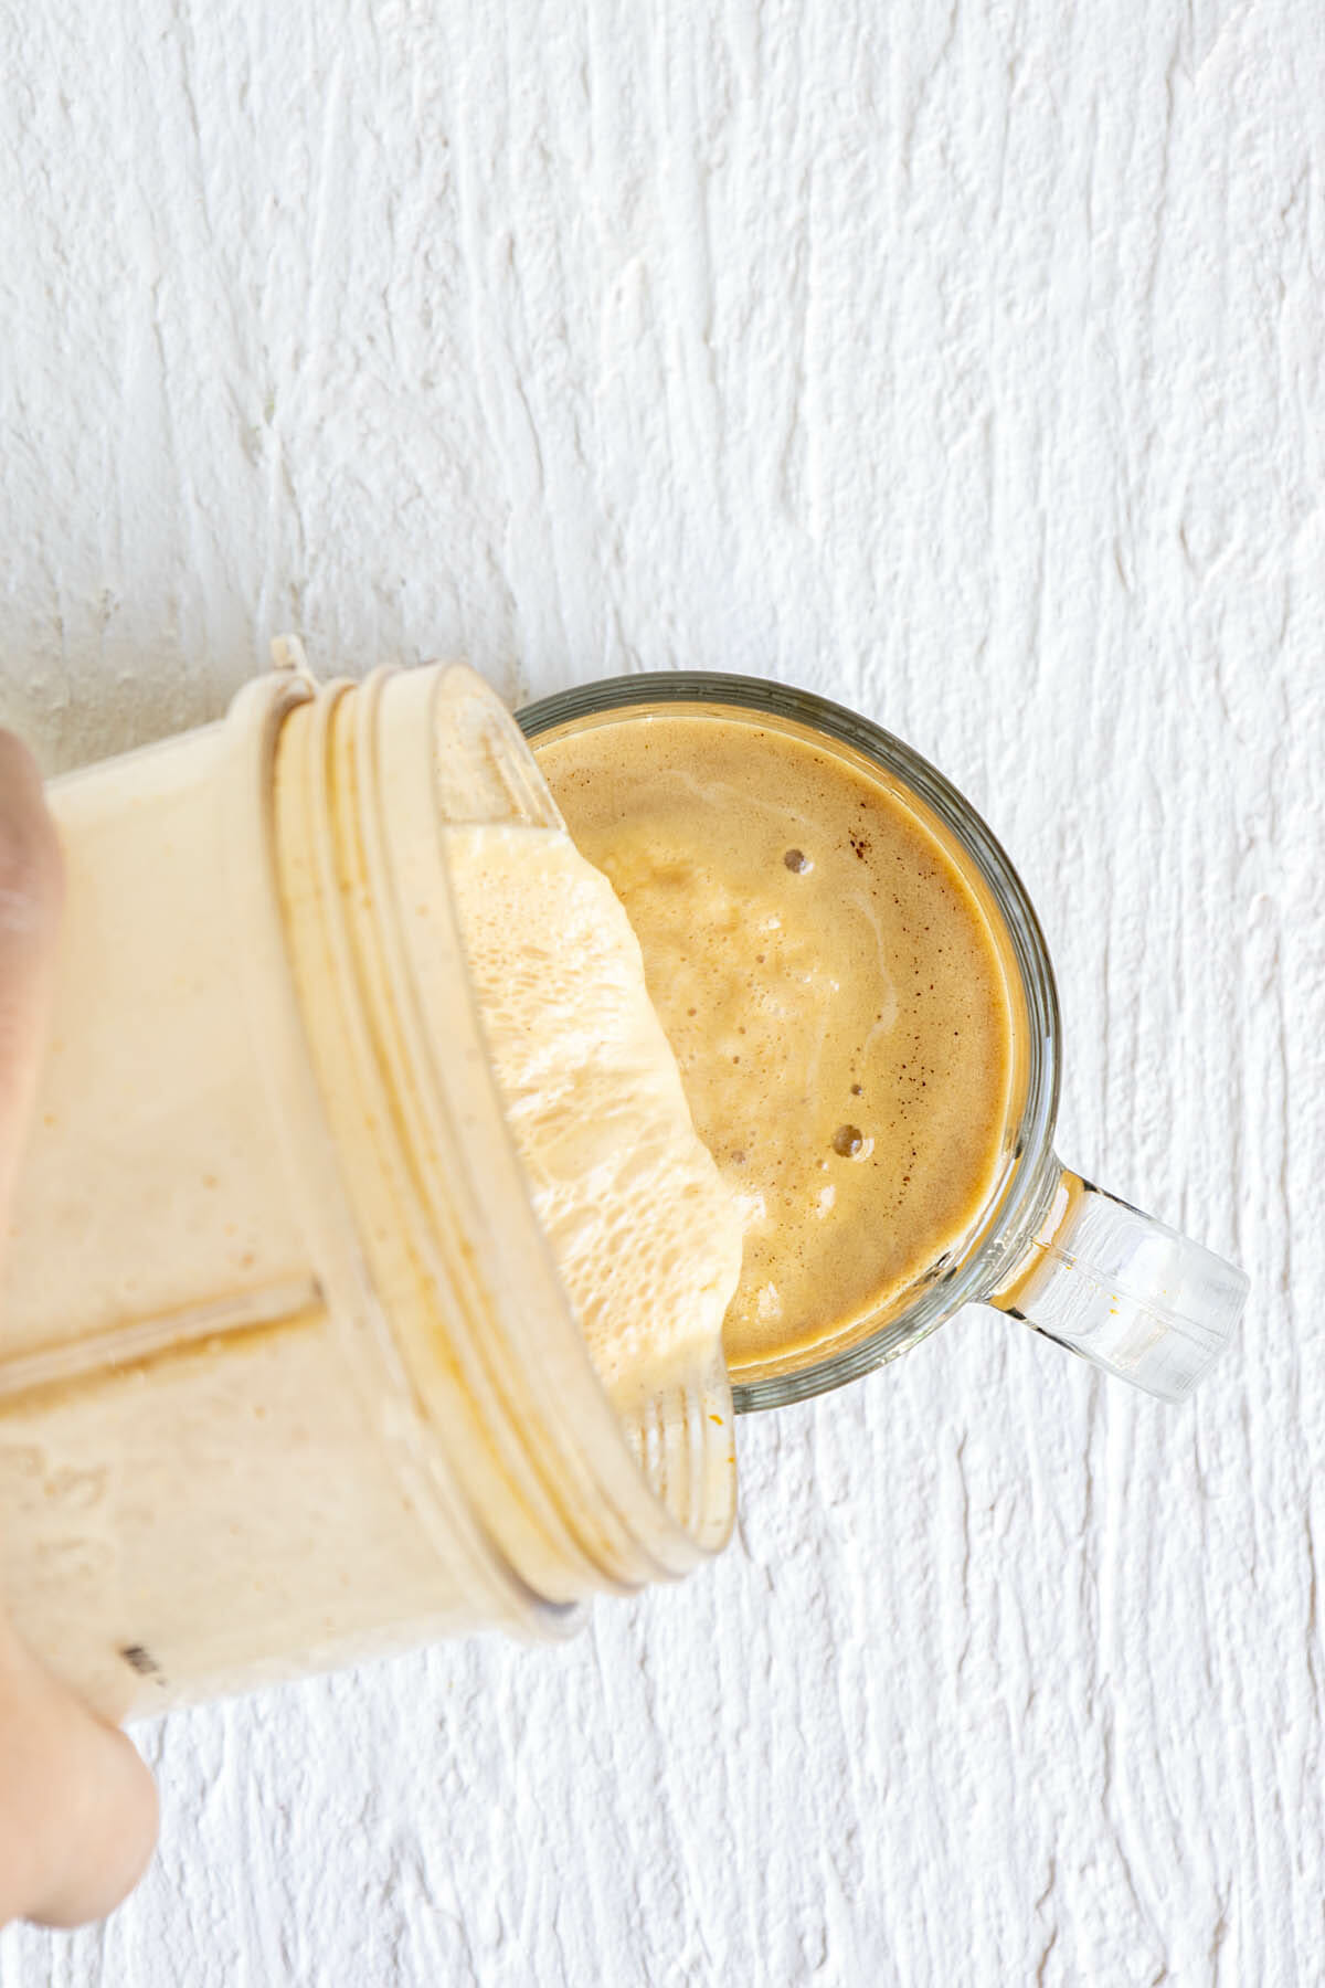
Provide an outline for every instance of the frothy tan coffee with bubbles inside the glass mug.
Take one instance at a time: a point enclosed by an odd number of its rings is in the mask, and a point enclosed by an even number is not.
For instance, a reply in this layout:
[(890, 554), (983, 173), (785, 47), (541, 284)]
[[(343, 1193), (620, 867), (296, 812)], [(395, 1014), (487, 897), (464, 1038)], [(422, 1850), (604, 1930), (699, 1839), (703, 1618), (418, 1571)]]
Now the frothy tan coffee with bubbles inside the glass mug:
[(727, 1364), (801, 1364), (896, 1306), (989, 1199), (1011, 1014), (983, 912), (900, 793), (799, 736), (622, 714), (534, 751), (630, 914), (745, 1215)]

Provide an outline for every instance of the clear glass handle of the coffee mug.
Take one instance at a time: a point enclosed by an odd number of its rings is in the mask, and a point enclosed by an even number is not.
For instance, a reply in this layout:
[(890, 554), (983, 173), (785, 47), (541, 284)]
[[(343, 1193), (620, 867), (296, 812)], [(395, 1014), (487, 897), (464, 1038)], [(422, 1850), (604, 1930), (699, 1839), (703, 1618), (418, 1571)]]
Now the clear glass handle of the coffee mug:
[(1186, 1402), (1234, 1336), (1248, 1278), (1051, 1159), (1057, 1185), (987, 1304), (1160, 1402)]

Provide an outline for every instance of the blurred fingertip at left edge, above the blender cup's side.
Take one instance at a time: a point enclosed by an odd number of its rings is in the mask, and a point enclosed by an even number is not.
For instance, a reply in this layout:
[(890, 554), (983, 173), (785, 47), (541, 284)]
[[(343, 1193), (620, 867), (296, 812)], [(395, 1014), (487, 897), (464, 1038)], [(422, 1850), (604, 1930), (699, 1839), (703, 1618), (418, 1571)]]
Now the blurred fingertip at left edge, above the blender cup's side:
[(28, 747), (0, 732), (0, 1193), (14, 1179), (42, 1056), (62, 861), (42, 775)]

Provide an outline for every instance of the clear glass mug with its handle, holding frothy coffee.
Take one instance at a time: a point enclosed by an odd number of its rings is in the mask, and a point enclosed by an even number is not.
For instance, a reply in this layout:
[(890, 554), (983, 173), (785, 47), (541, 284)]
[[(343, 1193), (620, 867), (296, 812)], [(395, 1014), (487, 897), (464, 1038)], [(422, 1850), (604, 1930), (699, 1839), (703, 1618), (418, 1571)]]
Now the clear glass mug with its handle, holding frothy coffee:
[(880, 1316), (731, 1372), (737, 1411), (781, 1408), (896, 1360), (971, 1302), (991, 1304), (1162, 1402), (1184, 1402), (1230, 1342), (1248, 1278), (1200, 1242), (1071, 1173), (1053, 1151), (1063, 1030), (1031, 901), (969, 801), (920, 753), (854, 712), (761, 678), (665, 672), (606, 678), (518, 712), (530, 744), (648, 712), (707, 712), (812, 744), (918, 815), (975, 893), (1013, 1006), (1013, 1095), (1001, 1169), (963, 1246)]

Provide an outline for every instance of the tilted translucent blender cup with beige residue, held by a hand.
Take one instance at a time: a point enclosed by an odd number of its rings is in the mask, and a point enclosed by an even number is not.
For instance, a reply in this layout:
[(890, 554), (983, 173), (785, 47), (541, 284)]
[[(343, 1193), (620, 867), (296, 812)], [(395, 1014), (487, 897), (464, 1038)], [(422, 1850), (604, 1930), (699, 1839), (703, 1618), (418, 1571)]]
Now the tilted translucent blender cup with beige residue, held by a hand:
[(0, 1592), (111, 1718), (685, 1573), (721, 1362), (624, 1427), (501, 1111), (447, 835), (560, 817), (469, 670), (50, 789), (66, 916), (0, 1292)]

